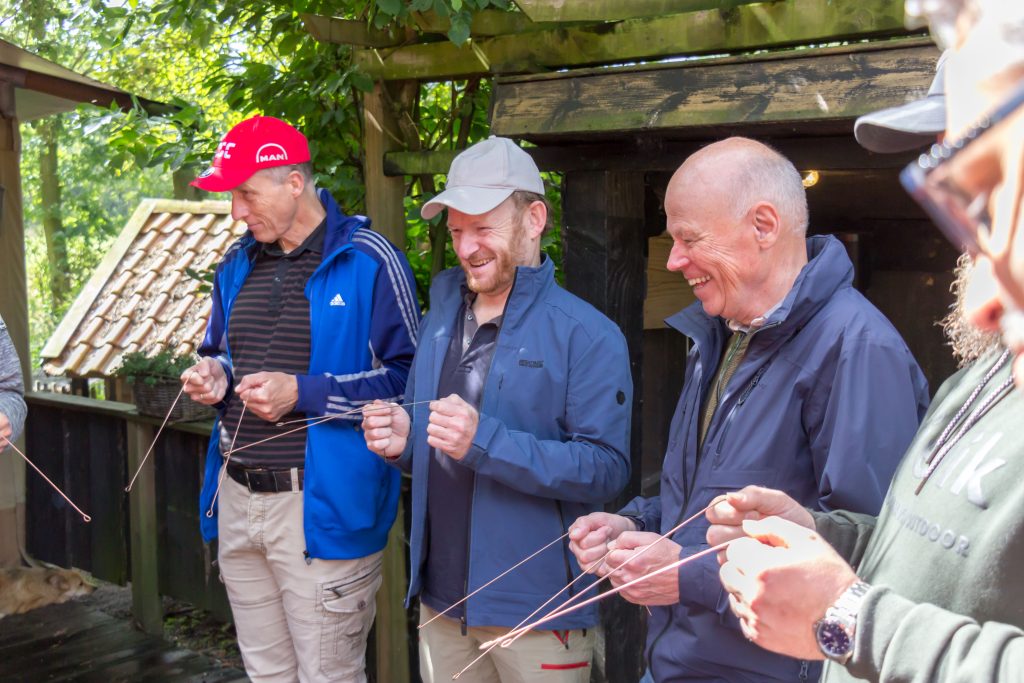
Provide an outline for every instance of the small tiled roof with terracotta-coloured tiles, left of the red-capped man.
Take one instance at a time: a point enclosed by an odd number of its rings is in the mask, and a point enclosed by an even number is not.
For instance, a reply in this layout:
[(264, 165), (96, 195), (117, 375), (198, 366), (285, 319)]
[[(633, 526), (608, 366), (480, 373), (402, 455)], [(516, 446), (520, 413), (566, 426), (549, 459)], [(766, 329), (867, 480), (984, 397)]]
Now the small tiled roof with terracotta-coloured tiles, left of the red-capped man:
[(110, 377), (129, 351), (194, 351), (210, 313), (204, 272), (246, 230), (228, 202), (143, 200), (43, 348), (43, 370)]

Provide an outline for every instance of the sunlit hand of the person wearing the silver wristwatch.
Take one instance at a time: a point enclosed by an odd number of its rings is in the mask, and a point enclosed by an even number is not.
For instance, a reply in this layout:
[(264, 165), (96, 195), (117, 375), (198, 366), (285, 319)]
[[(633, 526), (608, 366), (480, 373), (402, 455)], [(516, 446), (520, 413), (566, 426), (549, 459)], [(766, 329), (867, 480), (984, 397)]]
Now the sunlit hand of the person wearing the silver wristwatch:
[(780, 517), (743, 522), (719, 575), (746, 638), (798, 659), (823, 659), (814, 624), (857, 574), (813, 529)]

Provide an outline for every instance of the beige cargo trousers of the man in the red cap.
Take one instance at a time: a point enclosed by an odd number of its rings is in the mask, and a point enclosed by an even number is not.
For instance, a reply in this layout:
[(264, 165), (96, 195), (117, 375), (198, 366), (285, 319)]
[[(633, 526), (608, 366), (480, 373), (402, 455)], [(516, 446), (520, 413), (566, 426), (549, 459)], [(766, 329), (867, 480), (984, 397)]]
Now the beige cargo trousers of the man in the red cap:
[(220, 574), (246, 673), (257, 683), (366, 683), (381, 553), (306, 563), (302, 492), (220, 490)]

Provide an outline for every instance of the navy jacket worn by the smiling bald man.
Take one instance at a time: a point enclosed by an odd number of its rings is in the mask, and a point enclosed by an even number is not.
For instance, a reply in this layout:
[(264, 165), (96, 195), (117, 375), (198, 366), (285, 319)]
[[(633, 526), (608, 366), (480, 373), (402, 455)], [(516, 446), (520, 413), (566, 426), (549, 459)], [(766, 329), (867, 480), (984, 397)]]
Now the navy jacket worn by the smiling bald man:
[[(730, 331), (699, 302), (667, 323), (692, 341), (659, 498), (624, 514), (668, 531), (720, 494), (760, 484), (813, 509), (878, 513), (928, 407), (928, 383), (892, 325), (852, 287), (831, 237), (807, 240), (808, 264), (754, 333), (698, 454), (698, 423)], [(701, 516), (675, 537), (680, 557), (708, 547)], [(815, 681), (809, 665), (750, 643), (729, 611), (714, 556), (679, 570), (680, 602), (652, 607), (647, 645), (658, 683)]]

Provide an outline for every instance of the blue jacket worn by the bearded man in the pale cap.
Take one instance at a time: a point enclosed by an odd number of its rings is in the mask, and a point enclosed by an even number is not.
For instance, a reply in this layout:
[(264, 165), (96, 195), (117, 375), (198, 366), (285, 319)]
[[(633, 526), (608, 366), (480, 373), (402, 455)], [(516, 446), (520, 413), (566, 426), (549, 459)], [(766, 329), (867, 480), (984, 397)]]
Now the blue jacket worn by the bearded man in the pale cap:
[[(465, 275), (434, 278), (407, 399), (437, 397), (437, 382), (462, 303)], [(558, 287), (550, 259), (518, 267), (480, 404), (462, 463), (475, 473), (468, 592), (565, 533), (626, 485), (630, 473), (633, 382), (622, 332), (597, 309)], [(412, 437), (398, 464), (413, 473), (409, 599), (422, 588), (430, 446), (429, 405), (415, 405)], [(443, 543), (443, 539), (435, 540)], [(567, 542), (556, 544), (466, 602), (469, 626), (513, 627), (580, 574)], [(573, 587), (583, 588), (587, 580)], [(549, 608), (567, 599), (563, 594)], [(545, 629), (597, 624), (584, 608)]]

